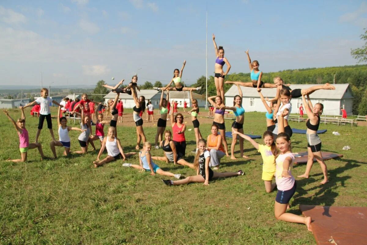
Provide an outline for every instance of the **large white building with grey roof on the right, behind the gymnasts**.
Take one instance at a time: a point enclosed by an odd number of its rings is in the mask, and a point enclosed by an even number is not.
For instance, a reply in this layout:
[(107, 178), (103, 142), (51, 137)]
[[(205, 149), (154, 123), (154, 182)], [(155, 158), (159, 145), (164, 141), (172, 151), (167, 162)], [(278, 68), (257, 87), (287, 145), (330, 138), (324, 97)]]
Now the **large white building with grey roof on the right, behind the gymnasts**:
[[(291, 84), (291, 89), (307, 89), (311, 86), (320, 84)], [(352, 115), (353, 94), (348, 83), (333, 84), (335, 90), (317, 90), (310, 94), (312, 104), (320, 102), (324, 105), (324, 115), (341, 115), (340, 108), (344, 107), (348, 115)], [(259, 93), (255, 88), (240, 86), (243, 94), (242, 106), (245, 111), (266, 112), (265, 106), (261, 101)], [(261, 89), (264, 97), (273, 98), (276, 89)], [(236, 85), (233, 85), (225, 94), (226, 106), (233, 106), (233, 98), (239, 94)], [(269, 102), (268, 102), (269, 103)], [(292, 98), (292, 112), (298, 113), (298, 108), (302, 103), (301, 98)]]

